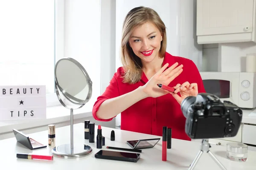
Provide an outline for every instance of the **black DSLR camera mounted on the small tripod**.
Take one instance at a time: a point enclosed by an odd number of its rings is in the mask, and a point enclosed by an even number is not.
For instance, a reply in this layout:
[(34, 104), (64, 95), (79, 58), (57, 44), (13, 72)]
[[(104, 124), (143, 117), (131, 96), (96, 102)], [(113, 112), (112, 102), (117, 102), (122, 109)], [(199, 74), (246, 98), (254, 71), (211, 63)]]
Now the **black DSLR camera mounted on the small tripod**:
[(191, 139), (233, 137), (241, 125), (241, 109), (212, 94), (186, 97), (181, 110), (186, 117), (185, 132)]

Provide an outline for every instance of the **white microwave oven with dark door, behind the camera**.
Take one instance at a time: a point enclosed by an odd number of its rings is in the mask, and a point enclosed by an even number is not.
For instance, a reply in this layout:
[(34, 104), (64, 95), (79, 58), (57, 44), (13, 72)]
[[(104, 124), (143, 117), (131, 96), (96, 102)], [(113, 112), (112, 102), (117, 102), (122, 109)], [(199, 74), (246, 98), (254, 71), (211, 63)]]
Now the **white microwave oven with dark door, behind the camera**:
[(204, 89), (221, 101), (227, 100), (239, 108), (256, 107), (256, 73), (200, 72)]

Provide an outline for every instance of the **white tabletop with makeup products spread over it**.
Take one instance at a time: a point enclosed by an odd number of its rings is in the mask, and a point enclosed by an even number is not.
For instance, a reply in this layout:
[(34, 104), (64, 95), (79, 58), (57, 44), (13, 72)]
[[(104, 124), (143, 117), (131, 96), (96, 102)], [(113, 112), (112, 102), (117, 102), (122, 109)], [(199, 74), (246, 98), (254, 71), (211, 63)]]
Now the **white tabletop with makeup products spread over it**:
[[(29, 137), (47, 144), (48, 132), (45, 131), (29, 134)], [(111, 130), (115, 131), (116, 140), (110, 140)], [(97, 127), (95, 127), (97, 133)], [(105, 136), (105, 146), (103, 150), (108, 150), (106, 146), (126, 147), (127, 140), (158, 138), (161, 136), (153, 136), (142, 133), (134, 133), (125, 130), (112, 129), (102, 127), (102, 135)], [(56, 128), (56, 145), (70, 143), (70, 126)], [(88, 156), (78, 159), (62, 159), (54, 157), (53, 161), (17, 159), (16, 153), (35, 153), (50, 154), (51, 148), (42, 148), (38, 150), (29, 150), (15, 138), (4, 139), (0, 141), (0, 169), (31, 169), (31, 170), (187, 170), (189, 164), (198, 154), (200, 144), (198, 142), (183, 141), (172, 139), (172, 149), (167, 149), (167, 161), (162, 161), (162, 138), (154, 146), (154, 148), (143, 149), (140, 159), (137, 163), (125, 161), (113, 161), (105, 159), (96, 159), (94, 154), (100, 149), (96, 148), (95, 143), (89, 143), (88, 139), (84, 139), (84, 124), (74, 125), (74, 146), (83, 146), (88, 144), (93, 148), (92, 153)], [(109, 149), (110, 150), (110, 149)], [(226, 148), (223, 146), (213, 145), (210, 150), (227, 168), (227, 170), (255, 170), (256, 169), (256, 152), (248, 151), (248, 160), (246, 162), (236, 162), (226, 159)], [(120, 150), (112, 150), (120, 151)], [(125, 151), (123, 151), (125, 152)], [(203, 153), (195, 167), (195, 170), (220, 170), (218, 165), (211, 159), (207, 153)]]

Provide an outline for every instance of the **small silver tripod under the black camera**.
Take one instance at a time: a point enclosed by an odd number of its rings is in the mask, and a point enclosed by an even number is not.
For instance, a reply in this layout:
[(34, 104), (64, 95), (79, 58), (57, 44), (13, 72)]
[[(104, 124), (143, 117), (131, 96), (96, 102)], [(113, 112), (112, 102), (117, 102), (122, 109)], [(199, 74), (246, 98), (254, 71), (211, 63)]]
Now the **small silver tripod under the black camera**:
[(209, 144), (209, 140), (208, 139), (202, 139), (202, 143), (200, 144), (200, 151), (197, 154), (197, 156), (195, 157), (194, 161), (192, 162), (192, 164), (190, 164), (189, 170), (193, 170), (195, 168), (195, 165), (197, 164), (198, 160), (200, 159), (200, 157), (202, 156), (203, 152), (205, 151), (206, 153), (209, 153), (209, 155), (211, 156), (211, 158), (218, 164), (219, 167), (221, 167), (222, 170), (227, 170), (222, 164), (221, 162), (213, 155), (213, 153), (209, 150), (209, 148), (211, 147)]

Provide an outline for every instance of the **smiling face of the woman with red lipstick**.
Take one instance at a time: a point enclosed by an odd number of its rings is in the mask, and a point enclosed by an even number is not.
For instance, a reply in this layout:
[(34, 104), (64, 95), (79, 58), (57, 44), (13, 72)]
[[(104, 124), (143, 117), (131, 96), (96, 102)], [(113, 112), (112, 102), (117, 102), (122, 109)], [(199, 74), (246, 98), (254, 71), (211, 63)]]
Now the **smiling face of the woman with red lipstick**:
[(144, 23), (134, 28), (129, 39), (134, 54), (140, 57), (142, 63), (152, 62), (159, 57), (161, 33), (152, 23)]

